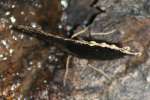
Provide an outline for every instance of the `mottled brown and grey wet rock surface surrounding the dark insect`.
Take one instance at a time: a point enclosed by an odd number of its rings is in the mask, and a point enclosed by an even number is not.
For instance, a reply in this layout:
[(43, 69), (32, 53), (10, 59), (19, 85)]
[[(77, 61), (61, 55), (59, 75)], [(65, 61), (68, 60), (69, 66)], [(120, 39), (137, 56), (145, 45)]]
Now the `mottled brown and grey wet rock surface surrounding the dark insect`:
[[(67, 18), (67, 22), (63, 22), (57, 0), (0, 1), (0, 99), (149, 100), (150, 1), (68, 2), (65, 16), (62, 16)], [(65, 87), (63, 75), (67, 54), (51, 42), (46, 43), (10, 29), (12, 24), (24, 24), (59, 33), (58, 27), (65, 29), (71, 25), (77, 27), (73, 31), (79, 31), (91, 15), (97, 14), (97, 8), (105, 12), (92, 17), (88, 30), (92, 39), (119, 42), (120, 46), (129, 46), (142, 55), (114, 60), (72, 57)], [(57, 26), (59, 20), (62, 20), (62, 26)], [(92, 35), (114, 29), (116, 31), (110, 35)], [(81, 38), (87, 36), (85, 34)], [(103, 70), (111, 81), (88, 66)]]

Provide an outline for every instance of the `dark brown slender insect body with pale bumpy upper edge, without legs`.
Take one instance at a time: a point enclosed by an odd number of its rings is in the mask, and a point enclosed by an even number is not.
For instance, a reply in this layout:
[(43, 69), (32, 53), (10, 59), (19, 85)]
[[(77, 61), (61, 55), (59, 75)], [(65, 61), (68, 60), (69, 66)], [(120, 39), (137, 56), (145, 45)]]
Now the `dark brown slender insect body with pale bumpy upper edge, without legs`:
[(62, 45), (64, 47), (62, 48), (62, 50), (82, 58), (106, 60), (120, 58), (124, 55), (140, 54), (131, 52), (129, 49), (120, 48), (116, 45), (110, 45), (107, 43), (97, 43), (95, 41), (79, 41), (56, 36), (29, 26), (17, 25), (13, 26), (13, 29), (23, 33), (27, 33), (31, 36), (36, 36), (37, 38), (43, 39), (45, 41), (53, 41), (54, 43)]

